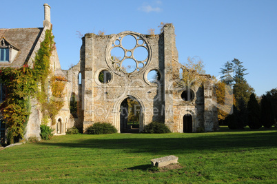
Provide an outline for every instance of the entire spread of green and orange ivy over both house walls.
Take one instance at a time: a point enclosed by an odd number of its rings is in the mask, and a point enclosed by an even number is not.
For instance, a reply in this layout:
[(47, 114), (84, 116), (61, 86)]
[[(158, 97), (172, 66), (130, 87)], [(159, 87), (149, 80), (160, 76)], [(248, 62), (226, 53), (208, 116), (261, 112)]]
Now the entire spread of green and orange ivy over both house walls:
[(34, 59), (34, 68), (24, 64), (21, 68), (1, 68), (0, 82), (6, 89), (6, 99), (0, 110), (9, 134), (22, 138), (30, 115), (30, 98), (37, 99), (44, 123), (54, 117), (63, 107), (65, 81), (50, 71), (50, 57), (55, 49), (52, 28), (45, 30), (45, 39)]

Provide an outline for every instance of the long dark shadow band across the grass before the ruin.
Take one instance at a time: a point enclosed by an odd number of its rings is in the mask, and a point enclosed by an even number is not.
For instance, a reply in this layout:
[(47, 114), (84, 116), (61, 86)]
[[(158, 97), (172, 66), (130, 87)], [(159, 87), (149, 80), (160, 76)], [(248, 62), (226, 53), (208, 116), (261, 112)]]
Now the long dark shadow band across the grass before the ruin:
[[(88, 149), (119, 149), (125, 153), (156, 153), (176, 154), (176, 152), (194, 152), (198, 150), (227, 151), (238, 148), (277, 147), (277, 132), (246, 132), (246, 133), (207, 133), (207, 134), (167, 134), (145, 137), (137, 136), (92, 136), (83, 135), (86, 139), (71, 139), (64, 142), (45, 141), (40, 144), (47, 146), (88, 148)], [(74, 142), (72, 142), (74, 141)]]

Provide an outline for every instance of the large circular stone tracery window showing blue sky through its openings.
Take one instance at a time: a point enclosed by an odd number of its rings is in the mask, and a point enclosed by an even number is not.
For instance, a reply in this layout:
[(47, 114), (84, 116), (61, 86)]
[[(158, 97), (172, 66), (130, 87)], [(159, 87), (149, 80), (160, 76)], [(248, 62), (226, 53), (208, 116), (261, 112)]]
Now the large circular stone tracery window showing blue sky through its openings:
[(116, 34), (107, 45), (107, 65), (116, 73), (131, 74), (143, 70), (150, 61), (150, 47), (143, 35), (136, 32)]

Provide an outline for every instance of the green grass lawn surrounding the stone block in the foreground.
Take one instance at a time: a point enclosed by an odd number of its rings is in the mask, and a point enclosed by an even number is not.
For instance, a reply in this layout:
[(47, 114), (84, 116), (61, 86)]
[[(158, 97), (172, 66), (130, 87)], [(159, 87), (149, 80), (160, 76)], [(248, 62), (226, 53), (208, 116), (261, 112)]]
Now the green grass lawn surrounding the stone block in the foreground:
[[(276, 183), (277, 130), (54, 136), (0, 151), (0, 183)], [(151, 172), (178, 156), (181, 168)]]

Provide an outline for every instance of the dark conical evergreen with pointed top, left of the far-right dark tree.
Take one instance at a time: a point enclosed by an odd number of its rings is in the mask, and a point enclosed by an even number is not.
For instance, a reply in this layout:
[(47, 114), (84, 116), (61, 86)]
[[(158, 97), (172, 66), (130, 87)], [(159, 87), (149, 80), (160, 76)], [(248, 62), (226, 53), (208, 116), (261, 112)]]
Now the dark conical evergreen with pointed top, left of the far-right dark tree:
[(260, 106), (254, 93), (250, 95), (247, 103), (248, 125), (251, 129), (259, 129), (262, 126), (260, 123)]

